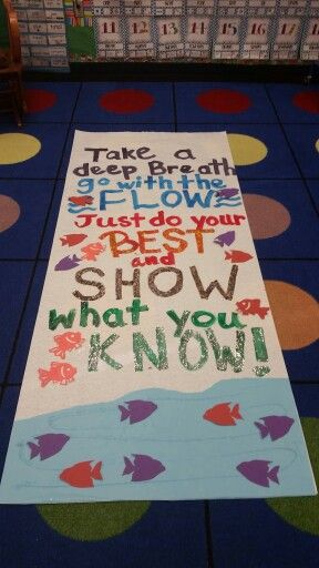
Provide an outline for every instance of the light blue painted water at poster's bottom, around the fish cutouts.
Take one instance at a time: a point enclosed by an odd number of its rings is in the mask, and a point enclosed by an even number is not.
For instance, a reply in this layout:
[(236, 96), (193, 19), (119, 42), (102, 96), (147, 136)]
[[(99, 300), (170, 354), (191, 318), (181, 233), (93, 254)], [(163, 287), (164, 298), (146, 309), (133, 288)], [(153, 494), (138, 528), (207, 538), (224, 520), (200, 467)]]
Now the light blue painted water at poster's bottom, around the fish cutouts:
[[(145, 420), (121, 422), (120, 404), (152, 400), (157, 409)], [(217, 426), (203, 419), (219, 403), (239, 404), (243, 420)], [(254, 422), (268, 415), (295, 419), (289, 433), (261, 439)], [(70, 440), (45, 460), (30, 459), (28, 442), (48, 433)], [(146, 481), (123, 476), (124, 456), (143, 454), (160, 460), (165, 471)], [(279, 485), (258, 486), (236, 467), (263, 459), (279, 465)], [(78, 488), (59, 476), (80, 462), (102, 462), (102, 480)], [(0, 488), (2, 503), (65, 503), (123, 499), (203, 499), (313, 495), (312, 473), (288, 379), (223, 381), (204, 393), (163, 389), (132, 393), (110, 403), (79, 406), (14, 423)]]

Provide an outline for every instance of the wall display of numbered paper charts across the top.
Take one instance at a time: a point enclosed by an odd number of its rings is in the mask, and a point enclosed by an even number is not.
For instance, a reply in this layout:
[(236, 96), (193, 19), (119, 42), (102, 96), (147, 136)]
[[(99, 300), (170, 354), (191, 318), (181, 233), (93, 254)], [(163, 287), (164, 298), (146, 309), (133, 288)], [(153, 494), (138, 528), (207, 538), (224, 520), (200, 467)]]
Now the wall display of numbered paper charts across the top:
[(318, 0), (13, 2), (27, 68), (112, 60), (318, 59)]

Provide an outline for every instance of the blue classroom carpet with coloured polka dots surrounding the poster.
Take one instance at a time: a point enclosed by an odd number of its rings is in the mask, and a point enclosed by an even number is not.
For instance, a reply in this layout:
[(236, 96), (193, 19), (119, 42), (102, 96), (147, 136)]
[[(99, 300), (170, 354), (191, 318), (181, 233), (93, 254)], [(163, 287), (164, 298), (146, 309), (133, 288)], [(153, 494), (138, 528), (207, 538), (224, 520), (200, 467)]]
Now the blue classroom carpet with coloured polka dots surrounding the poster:
[[(74, 130), (226, 130), (319, 484), (319, 87), (30, 82), (0, 122), (0, 468)], [(1, 568), (318, 567), (319, 498), (0, 507)]]

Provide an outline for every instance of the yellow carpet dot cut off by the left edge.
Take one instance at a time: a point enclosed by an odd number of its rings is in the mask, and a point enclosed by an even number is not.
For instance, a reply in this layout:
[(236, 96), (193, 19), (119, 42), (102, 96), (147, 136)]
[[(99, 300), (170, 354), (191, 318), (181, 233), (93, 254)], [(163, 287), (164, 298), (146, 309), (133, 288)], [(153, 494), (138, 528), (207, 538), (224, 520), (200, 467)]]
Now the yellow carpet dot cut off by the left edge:
[(41, 150), (41, 142), (30, 134), (0, 134), (0, 164), (25, 162)]

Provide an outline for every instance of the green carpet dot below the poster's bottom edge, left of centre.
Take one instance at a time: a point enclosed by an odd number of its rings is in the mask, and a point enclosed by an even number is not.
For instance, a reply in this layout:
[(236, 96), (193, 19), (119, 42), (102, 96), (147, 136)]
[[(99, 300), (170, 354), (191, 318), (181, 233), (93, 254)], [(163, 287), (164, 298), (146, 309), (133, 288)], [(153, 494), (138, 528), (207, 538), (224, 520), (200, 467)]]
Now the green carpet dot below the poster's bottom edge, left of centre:
[(74, 540), (105, 540), (121, 535), (148, 510), (150, 501), (38, 505), (42, 519)]

